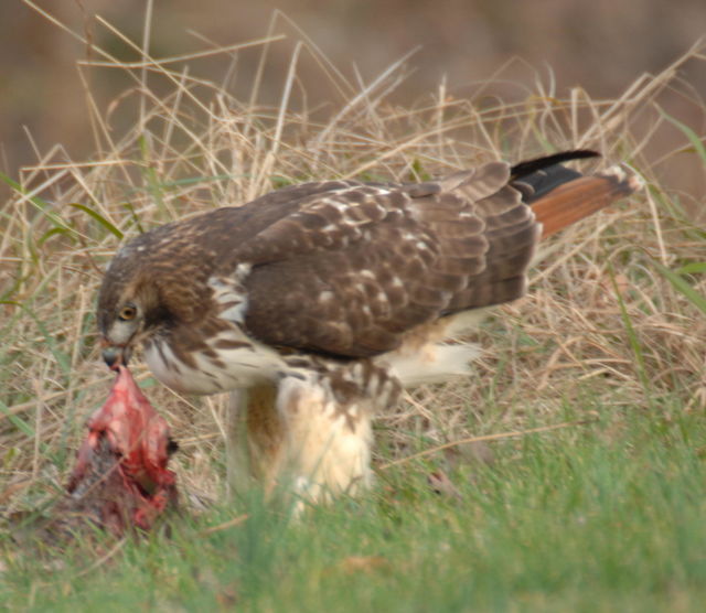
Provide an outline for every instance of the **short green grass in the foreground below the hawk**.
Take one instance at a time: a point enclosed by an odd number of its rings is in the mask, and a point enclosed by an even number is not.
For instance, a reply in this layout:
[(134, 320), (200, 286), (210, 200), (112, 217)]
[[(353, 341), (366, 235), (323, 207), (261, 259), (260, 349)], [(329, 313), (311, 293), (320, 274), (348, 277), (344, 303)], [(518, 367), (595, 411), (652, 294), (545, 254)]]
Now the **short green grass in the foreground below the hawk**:
[[(171, 537), (128, 540), (97, 567), (78, 542), (47, 571), (55, 563), (6, 539), (2, 601), (36, 611), (697, 611), (706, 424), (671, 409), (665, 420), (606, 408), (590, 426), (500, 442), (492, 464), (451, 473), (461, 498), (434, 493), (430, 464), (417, 463), (295, 521), (256, 499), (176, 519)], [(243, 513), (243, 524), (203, 534)]]

